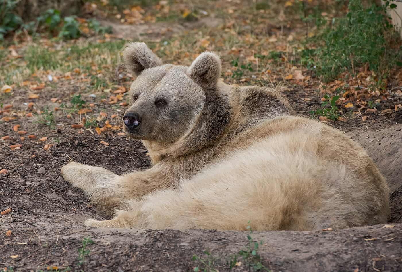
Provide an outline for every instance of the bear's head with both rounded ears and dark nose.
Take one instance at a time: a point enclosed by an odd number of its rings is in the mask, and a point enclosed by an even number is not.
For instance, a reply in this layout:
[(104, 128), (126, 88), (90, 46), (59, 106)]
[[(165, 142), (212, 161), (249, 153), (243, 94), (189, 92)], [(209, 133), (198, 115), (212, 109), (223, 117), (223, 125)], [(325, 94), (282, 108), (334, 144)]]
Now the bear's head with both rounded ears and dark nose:
[(130, 73), (129, 109), (123, 116), (124, 131), (135, 139), (174, 143), (189, 133), (205, 105), (206, 92), (216, 89), (221, 61), (203, 52), (191, 66), (163, 64), (144, 42), (123, 50)]

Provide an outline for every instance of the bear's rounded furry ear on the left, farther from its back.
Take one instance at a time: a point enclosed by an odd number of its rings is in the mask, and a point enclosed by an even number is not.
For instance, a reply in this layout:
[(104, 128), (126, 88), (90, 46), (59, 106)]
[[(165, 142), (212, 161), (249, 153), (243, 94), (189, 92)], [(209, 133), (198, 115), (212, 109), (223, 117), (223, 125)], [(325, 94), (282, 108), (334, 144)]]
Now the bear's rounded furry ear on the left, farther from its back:
[(123, 49), (123, 62), (127, 70), (135, 75), (147, 68), (162, 65), (162, 60), (151, 51), (145, 42), (130, 42)]

